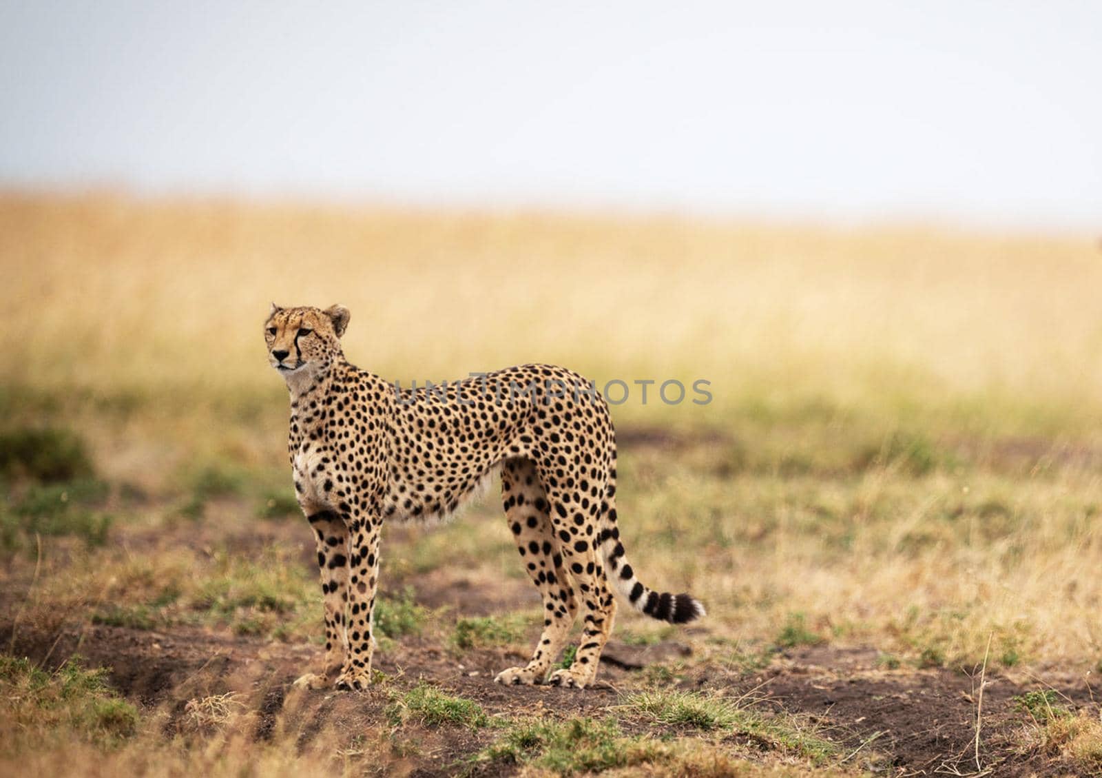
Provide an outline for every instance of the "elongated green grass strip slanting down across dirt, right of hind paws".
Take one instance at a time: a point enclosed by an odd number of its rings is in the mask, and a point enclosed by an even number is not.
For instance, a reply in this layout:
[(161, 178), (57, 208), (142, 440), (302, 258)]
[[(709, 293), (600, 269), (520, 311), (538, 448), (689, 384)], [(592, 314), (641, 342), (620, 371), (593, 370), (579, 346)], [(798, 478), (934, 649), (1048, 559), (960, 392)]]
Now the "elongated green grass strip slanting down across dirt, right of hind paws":
[(761, 713), (724, 698), (652, 690), (628, 695), (620, 709), (666, 726), (728, 732), (817, 765), (825, 764), (839, 753), (833, 743), (819, 737), (796, 717)]

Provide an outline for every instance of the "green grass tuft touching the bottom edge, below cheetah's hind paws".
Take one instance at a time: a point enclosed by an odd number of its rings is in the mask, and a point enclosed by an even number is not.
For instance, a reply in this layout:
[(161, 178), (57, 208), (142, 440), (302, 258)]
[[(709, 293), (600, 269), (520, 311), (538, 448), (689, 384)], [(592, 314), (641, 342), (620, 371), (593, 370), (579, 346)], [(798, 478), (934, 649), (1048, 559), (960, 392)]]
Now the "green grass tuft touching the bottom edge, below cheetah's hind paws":
[(533, 720), (514, 723), (496, 743), (476, 754), (469, 766), (529, 765), (572, 776), (661, 761), (670, 753), (669, 746), (651, 737), (624, 735), (613, 718)]

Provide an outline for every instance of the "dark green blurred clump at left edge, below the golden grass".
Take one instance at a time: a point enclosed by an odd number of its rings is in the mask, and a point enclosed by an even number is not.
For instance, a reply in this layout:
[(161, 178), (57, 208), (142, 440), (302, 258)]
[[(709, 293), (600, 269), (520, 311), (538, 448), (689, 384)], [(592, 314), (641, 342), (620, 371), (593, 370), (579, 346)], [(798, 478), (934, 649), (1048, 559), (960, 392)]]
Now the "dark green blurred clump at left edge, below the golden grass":
[(0, 432), (0, 477), (55, 482), (91, 474), (87, 447), (74, 432), (53, 428)]

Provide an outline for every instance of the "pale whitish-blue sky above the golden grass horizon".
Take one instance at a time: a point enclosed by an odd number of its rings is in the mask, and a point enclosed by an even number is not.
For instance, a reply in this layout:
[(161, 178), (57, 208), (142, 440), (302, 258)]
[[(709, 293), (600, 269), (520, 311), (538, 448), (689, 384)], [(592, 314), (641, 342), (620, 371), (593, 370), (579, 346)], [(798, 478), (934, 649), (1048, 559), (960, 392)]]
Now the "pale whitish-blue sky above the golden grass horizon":
[(1099, 2), (0, 0), (0, 187), (1102, 227)]

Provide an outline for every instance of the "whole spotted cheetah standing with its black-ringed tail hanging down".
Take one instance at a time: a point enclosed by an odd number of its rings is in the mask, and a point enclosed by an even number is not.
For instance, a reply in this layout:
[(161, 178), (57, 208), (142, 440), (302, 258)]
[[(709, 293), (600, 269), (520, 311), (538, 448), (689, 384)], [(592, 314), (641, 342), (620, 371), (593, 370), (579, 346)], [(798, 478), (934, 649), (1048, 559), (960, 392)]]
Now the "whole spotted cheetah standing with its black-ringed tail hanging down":
[[(645, 586), (616, 523), (616, 442), (608, 406), (576, 372), (523, 365), (402, 389), (349, 364), (348, 310), (280, 307), (264, 323), (271, 366), (291, 396), (288, 454), (317, 544), (325, 668), (296, 685), (363, 690), (371, 680), (386, 520), (454, 514), (495, 473), (517, 550), (543, 599), (531, 660), (504, 684), (593, 683), (613, 628), (613, 593), (673, 624), (704, 615), (689, 594)], [(548, 676), (583, 613), (568, 669)]]

